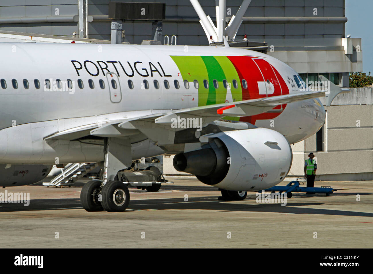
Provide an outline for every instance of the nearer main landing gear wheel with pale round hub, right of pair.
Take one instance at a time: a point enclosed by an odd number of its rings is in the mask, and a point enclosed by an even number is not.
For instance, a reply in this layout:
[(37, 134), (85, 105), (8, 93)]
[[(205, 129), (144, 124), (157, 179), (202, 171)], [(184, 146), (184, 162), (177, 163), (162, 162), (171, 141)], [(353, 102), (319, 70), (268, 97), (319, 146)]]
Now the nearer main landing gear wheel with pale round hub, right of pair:
[(102, 207), (109, 212), (125, 211), (129, 204), (129, 191), (119, 181), (109, 181), (102, 188)]

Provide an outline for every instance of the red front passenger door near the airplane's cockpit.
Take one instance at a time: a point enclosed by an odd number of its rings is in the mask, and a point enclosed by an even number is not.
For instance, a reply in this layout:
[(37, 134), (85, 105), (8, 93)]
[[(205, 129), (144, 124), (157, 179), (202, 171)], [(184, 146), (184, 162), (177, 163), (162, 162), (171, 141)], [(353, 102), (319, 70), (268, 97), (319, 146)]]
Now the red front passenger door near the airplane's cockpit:
[(264, 59), (253, 60), (258, 65), (264, 78), (264, 82), (258, 82), (259, 94), (265, 94), (267, 97), (282, 95), (280, 82), (268, 61)]

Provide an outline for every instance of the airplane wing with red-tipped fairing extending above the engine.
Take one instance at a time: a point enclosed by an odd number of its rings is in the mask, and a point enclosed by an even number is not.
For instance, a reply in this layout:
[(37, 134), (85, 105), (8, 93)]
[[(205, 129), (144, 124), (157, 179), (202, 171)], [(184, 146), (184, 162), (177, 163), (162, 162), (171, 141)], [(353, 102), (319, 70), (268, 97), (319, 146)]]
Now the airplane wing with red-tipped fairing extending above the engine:
[(325, 96), (325, 91), (307, 91), (180, 110), (160, 110), (159, 112), (153, 110), (152, 114), (106, 121), (101, 126), (97, 124), (81, 125), (54, 133), (44, 139), (74, 140), (84, 136), (126, 137), (142, 133), (158, 144), (170, 144), (175, 137), (175, 132), (180, 130), (172, 127), (173, 121), (178, 118), (201, 119), (202, 125), (206, 126), (210, 122), (222, 119), (225, 116), (252, 116), (269, 111), (277, 105), (323, 96)]

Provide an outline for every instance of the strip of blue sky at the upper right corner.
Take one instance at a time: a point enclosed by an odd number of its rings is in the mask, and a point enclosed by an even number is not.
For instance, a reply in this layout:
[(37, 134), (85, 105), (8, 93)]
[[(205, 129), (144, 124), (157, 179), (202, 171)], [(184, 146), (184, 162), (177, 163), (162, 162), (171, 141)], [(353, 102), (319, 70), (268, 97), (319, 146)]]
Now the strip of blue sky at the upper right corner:
[(373, 1), (346, 0), (346, 35), (361, 38), (363, 72), (373, 74)]

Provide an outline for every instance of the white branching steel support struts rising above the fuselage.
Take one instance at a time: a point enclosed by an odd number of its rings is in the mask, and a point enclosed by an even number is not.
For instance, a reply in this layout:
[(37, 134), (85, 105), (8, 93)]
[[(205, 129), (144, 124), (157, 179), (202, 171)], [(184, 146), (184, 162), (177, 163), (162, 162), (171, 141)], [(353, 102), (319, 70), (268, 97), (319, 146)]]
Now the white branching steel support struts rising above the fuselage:
[[(251, 0), (242, 1), (241, 6), (239, 7), (236, 15), (233, 15), (231, 20), (228, 23), (228, 26), (225, 27), (226, 23), (226, 0), (216, 0), (215, 1), (215, 10), (216, 10), (216, 26), (211, 20), (210, 16), (203, 11), (198, 0), (189, 0), (194, 10), (197, 12), (198, 17), (200, 18), (200, 23), (203, 30), (206, 33), (209, 43), (211, 42), (223, 42), (223, 37), (226, 40), (233, 41), (236, 37), (239, 27), (242, 23), (242, 17), (244, 16)], [(218, 4), (219, 2), (219, 4)], [(213, 38), (213, 40), (210, 39)], [(224, 43), (225, 44), (225, 43)]]

